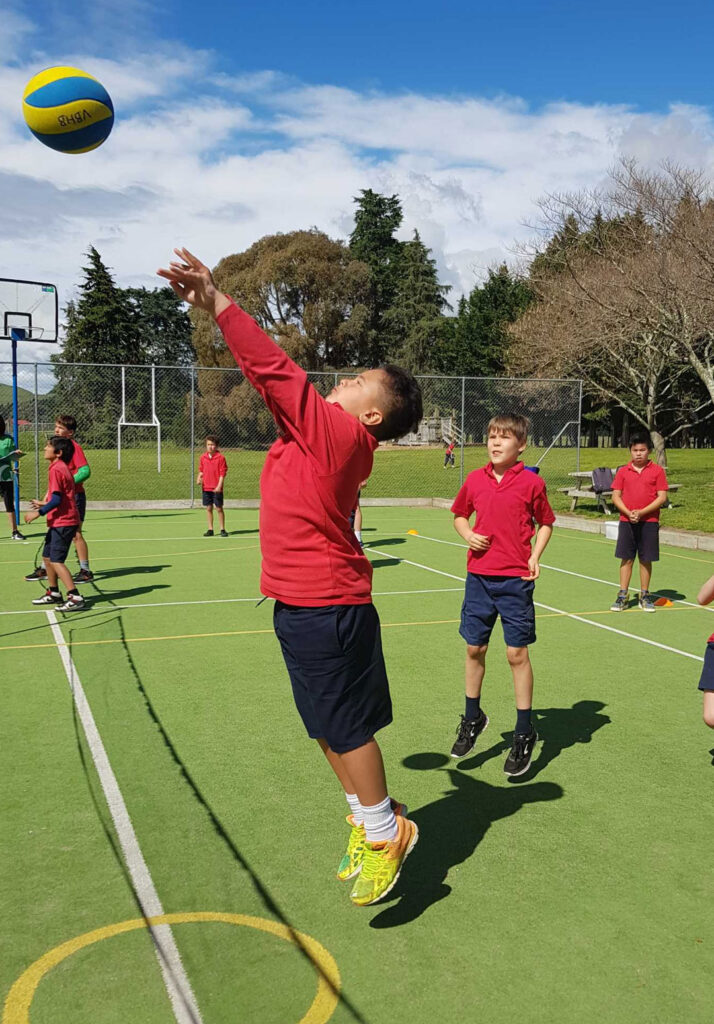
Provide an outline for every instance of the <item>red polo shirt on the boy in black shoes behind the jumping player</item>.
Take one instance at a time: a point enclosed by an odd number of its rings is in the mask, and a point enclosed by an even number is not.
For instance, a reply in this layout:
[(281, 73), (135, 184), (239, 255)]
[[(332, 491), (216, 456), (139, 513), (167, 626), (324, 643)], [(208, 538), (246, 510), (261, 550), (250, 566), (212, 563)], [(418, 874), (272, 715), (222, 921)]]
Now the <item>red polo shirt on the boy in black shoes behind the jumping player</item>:
[(451, 510), (464, 519), (475, 512), (473, 528), (491, 538), (488, 551), (469, 549), (466, 568), (476, 575), (528, 575), (535, 523), (555, 522), (545, 480), (527, 472), (522, 462), (506, 470), (500, 483), (491, 463), (469, 473)]

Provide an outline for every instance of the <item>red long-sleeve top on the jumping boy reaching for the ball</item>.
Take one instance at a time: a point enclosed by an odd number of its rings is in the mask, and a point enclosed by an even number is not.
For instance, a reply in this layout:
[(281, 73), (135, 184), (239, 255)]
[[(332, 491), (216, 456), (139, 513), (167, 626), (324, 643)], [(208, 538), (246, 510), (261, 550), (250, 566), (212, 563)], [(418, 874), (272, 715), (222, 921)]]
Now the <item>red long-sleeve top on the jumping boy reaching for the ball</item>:
[(369, 604), (372, 565), (349, 525), (377, 440), (325, 400), (271, 338), (232, 303), (225, 343), (272, 414), (280, 437), (260, 475), (260, 590), (286, 604)]

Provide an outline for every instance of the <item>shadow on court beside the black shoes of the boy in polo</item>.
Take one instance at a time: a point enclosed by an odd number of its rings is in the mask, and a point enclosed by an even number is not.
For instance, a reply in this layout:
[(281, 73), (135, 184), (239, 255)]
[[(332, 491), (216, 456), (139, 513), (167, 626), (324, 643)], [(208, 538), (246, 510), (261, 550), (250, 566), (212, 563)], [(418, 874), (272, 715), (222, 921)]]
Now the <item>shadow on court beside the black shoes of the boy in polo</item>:
[[(572, 708), (544, 708), (535, 711), (533, 718), (539, 738), (536, 757), (524, 775), (516, 775), (508, 781), (516, 785), (529, 782), (569, 746), (589, 743), (593, 734), (611, 722), (607, 715), (601, 714), (604, 707), (601, 700), (577, 700)], [(485, 751), (476, 748), (473, 757), (459, 762), (459, 770), (480, 768), (487, 761), (509, 751), (513, 733), (502, 732), (501, 736), (501, 740)]]

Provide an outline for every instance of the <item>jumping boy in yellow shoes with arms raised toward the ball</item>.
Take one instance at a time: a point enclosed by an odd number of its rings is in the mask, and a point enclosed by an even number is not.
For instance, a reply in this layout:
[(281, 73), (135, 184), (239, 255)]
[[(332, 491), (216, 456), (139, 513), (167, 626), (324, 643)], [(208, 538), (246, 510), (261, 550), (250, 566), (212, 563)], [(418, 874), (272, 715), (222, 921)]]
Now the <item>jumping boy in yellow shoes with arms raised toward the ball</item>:
[[(260, 478), (260, 588), (307, 734), (317, 739), (351, 811), (340, 879), (367, 906), (394, 886), (418, 829), (389, 799), (375, 733), (391, 722), (372, 566), (349, 526), (360, 481), (380, 440), (421, 419), (419, 386), (394, 366), (340, 381), (327, 398), (247, 313), (216, 290), (185, 249), (159, 271), (176, 295), (205, 309), (276, 419), (279, 439)], [(308, 837), (299, 848), (307, 855)], [(300, 866), (302, 877), (307, 868)]]

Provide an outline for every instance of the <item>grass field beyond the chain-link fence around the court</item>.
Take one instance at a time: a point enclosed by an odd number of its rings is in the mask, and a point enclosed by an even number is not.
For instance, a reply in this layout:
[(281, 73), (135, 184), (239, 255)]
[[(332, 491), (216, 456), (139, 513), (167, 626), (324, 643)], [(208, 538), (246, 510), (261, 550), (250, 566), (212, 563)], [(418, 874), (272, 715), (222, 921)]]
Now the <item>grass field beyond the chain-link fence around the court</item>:
[[(44, 493), (46, 467), (35, 466), (34, 436), (20, 437), (20, 446), (28, 453), (22, 463), (23, 500), (34, 498), (36, 490)], [(87, 485), (90, 501), (179, 501), (191, 498), (192, 478), (198, 472), (201, 450), (197, 449), (192, 471), (191, 451), (164, 445), (162, 469), (157, 472), (156, 446), (126, 449), (122, 453), (122, 469), (117, 469), (117, 451), (87, 449), (92, 468), (91, 483)], [(225, 449), (228, 473), (225, 484), (226, 499), (255, 499), (258, 497), (258, 477), (265, 461), (264, 452)], [(573, 484), (568, 474), (576, 469), (575, 449), (553, 449), (543, 461), (542, 472), (548, 483), (551, 504), (556, 512), (570, 510), (571, 501), (558, 493), (557, 487)], [(544, 455), (542, 449), (530, 447), (523, 459), (533, 464)], [(616, 467), (628, 462), (625, 449), (581, 449), (581, 469), (595, 466)], [(673, 508), (662, 513), (663, 525), (677, 529), (711, 530), (712, 500), (714, 499), (714, 473), (712, 451), (701, 449), (673, 449), (668, 453), (667, 473), (681, 489), (673, 498)], [(488, 461), (484, 446), (464, 450), (464, 472)], [(456, 468), (444, 469), (443, 449), (379, 449), (374, 470), (365, 492), (366, 498), (451, 498), (461, 479), (460, 453), (456, 452)], [(38, 487), (39, 481), (39, 487)], [(200, 504), (201, 492), (194, 486), (195, 498)], [(576, 515), (600, 518), (595, 503), (581, 502)]]

